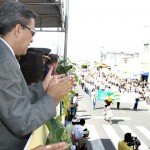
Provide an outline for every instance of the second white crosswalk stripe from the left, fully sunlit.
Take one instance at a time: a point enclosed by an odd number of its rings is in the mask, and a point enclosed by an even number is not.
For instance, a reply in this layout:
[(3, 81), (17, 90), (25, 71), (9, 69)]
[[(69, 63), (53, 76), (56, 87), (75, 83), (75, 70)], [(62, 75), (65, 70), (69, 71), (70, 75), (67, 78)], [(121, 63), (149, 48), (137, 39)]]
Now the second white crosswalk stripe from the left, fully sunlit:
[(118, 141), (121, 141), (120, 137), (116, 134), (115, 130), (111, 125), (103, 125), (105, 132), (107, 133), (108, 137), (112, 141), (114, 147), (118, 149)]

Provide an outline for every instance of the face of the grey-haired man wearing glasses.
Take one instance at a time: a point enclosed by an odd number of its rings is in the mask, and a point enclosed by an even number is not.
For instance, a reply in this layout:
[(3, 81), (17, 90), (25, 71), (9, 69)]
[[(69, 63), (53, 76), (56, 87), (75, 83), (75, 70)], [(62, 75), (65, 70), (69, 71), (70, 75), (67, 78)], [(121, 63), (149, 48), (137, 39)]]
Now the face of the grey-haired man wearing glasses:
[(27, 53), (28, 46), (33, 42), (33, 32), (34, 32), (34, 19), (30, 19), (28, 25), (21, 25), (22, 31), (19, 37), (20, 44), (17, 48), (17, 55), (25, 55)]

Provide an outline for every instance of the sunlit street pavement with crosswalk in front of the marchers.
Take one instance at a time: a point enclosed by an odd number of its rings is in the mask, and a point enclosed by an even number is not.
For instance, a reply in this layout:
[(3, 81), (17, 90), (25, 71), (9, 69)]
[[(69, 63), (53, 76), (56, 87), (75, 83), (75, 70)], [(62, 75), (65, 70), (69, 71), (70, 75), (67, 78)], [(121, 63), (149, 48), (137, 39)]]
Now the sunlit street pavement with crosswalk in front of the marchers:
[(116, 103), (113, 103), (113, 118), (110, 124), (104, 120), (104, 103), (97, 101), (93, 110), (90, 96), (80, 86), (77, 86), (75, 91), (79, 94), (77, 118), (85, 118), (85, 126), (90, 130), (88, 150), (116, 150), (118, 141), (123, 140), (127, 132), (140, 140), (140, 150), (149, 149), (150, 105), (145, 101), (139, 102), (137, 111), (133, 110), (133, 103), (121, 103), (120, 110), (117, 110)]

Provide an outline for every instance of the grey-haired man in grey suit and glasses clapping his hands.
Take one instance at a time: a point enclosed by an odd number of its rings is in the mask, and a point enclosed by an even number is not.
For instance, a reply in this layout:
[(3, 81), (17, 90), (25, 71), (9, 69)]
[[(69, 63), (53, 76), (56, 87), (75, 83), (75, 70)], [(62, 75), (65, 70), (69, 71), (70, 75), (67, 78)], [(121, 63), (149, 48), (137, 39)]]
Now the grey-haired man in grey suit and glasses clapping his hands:
[(73, 86), (69, 77), (57, 79), (56, 84), (52, 70), (43, 83), (27, 86), (15, 55), (26, 54), (33, 42), (35, 17), (30, 8), (19, 2), (7, 2), (0, 7), (0, 149), (3, 150), (23, 149), (30, 134), (55, 117), (61, 97)]

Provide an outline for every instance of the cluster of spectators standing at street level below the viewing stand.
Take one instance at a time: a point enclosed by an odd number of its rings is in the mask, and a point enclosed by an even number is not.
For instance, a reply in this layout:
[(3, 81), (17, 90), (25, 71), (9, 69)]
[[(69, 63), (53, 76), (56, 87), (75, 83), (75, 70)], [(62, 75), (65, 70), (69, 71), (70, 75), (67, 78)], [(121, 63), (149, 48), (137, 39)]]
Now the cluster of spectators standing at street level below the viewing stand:
[(71, 96), (71, 106), (65, 117), (67, 143), (71, 146), (71, 150), (86, 150), (89, 130), (85, 127), (85, 119), (78, 119), (78, 101), (78, 93)]

